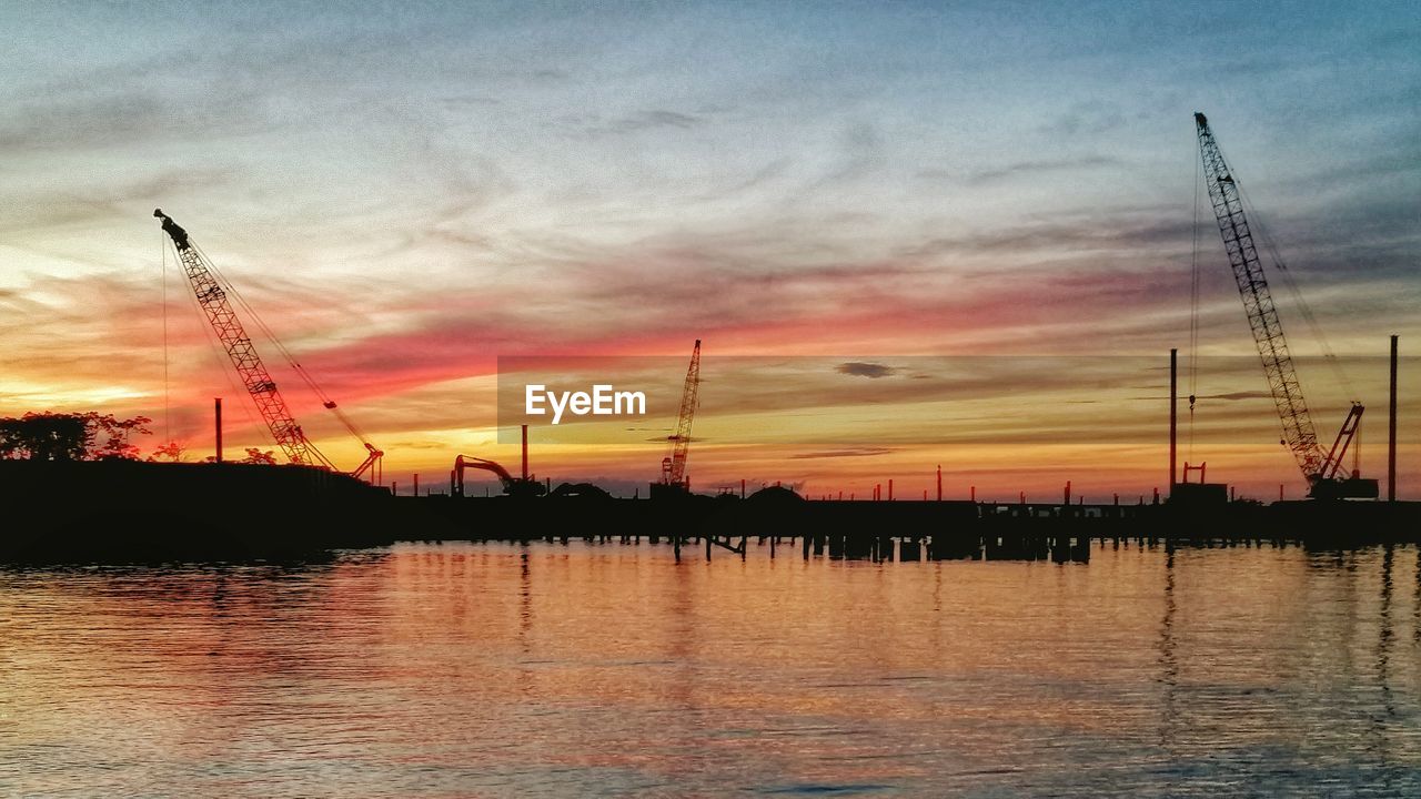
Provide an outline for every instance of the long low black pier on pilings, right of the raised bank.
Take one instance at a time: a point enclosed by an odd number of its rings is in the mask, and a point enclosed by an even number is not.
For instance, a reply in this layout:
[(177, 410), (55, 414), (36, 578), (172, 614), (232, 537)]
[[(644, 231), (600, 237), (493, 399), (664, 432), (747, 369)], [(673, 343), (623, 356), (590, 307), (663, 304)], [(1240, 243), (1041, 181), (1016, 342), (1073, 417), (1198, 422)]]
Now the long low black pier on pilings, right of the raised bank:
[[(871, 562), (1088, 562), (1113, 546), (1351, 547), (1421, 543), (1421, 503), (1086, 505), (986, 502), (776, 502), (691, 498), (512, 500), (398, 498), (445, 530), (419, 540), (666, 545), (706, 559), (823, 557)], [(676, 532), (679, 530), (679, 532)]]

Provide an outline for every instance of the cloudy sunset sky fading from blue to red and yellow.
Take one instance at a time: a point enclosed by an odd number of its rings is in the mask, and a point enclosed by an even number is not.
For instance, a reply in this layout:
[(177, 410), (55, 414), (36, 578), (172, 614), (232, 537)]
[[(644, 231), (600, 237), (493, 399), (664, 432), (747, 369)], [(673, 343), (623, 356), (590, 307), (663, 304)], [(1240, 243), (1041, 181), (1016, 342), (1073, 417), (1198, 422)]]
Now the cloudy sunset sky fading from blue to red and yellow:
[[(1189, 347), (1194, 111), (1344, 361), (1350, 388), (1300, 365), (1319, 434), (1366, 401), (1371, 476), (1387, 336), (1421, 353), (1414, 1), (3, 3), (0, 45), (0, 415), (144, 414), (145, 451), (210, 454), (217, 395), (229, 451), (273, 448), (161, 206), (388, 452), (387, 482), (516, 463), (500, 355), (662, 355), (675, 388), (701, 338), (699, 490), (921, 498), (942, 463), (951, 496), (1148, 495), (1162, 367)], [(1300, 496), (1199, 208), (1219, 358), (1192, 456)], [(1322, 353), (1275, 294), (1295, 353)], [(750, 355), (793, 364), (773, 402), (733, 377)], [(922, 377), (942, 363), (973, 367)], [(1421, 361), (1403, 368), (1418, 498)], [(536, 429), (534, 471), (630, 495), (669, 424)]]

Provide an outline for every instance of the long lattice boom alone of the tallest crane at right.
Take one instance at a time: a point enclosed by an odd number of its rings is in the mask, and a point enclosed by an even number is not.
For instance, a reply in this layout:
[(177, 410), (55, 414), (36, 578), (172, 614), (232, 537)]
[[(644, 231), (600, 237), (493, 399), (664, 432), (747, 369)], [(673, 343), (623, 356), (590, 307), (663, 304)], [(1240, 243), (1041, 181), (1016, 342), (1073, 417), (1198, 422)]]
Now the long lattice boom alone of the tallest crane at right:
[(1214, 141), (1209, 121), (1204, 114), (1195, 114), (1194, 122), (1199, 132), (1199, 156), (1204, 161), (1209, 202), (1214, 205), (1214, 216), (1223, 236), (1223, 249), (1228, 252), (1229, 266), (1233, 269), (1233, 279), (1243, 299), (1243, 311), (1253, 331), (1253, 343), (1258, 344), (1258, 354), (1263, 361), (1277, 418), (1283, 422), (1283, 441), (1297, 459), (1297, 466), (1307, 482), (1316, 483), (1324, 478), (1324, 471), (1336, 471), (1336, 466), (1317, 444), (1317, 431), (1307, 412), (1307, 402), (1303, 401), (1303, 390), (1297, 381), (1293, 357), (1287, 351), (1287, 340), (1283, 338), (1283, 324), (1277, 318), (1277, 307), (1268, 289), (1263, 263), (1258, 257), (1253, 235), (1243, 216), (1243, 199), (1238, 182), (1223, 161), (1218, 142)]

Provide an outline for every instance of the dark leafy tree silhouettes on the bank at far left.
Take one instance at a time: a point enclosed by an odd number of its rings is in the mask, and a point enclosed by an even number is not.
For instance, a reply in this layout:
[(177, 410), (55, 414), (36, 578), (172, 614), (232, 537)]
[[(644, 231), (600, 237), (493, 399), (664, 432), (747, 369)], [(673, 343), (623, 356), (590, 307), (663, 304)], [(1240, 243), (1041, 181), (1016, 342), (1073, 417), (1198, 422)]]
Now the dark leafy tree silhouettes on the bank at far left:
[[(36, 414), (20, 418), (0, 418), (0, 458), (10, 461), (101, 461), (111, 458), (138, 458), (138, 446), (129, 442), (136, 431), (148, 435), (144, 427), (148, 417), (131, 419), (115, 418), (114, 414)], [(102, 439), (102, 444), (99, 444)]]

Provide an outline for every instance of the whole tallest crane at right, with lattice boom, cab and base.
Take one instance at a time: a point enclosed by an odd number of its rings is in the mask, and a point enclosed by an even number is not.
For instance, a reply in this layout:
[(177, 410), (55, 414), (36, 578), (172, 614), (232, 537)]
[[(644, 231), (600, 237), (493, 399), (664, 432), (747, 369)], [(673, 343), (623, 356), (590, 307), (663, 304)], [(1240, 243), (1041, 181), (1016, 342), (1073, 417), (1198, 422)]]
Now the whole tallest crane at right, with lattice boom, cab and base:
[[(1268, 387), (1273, 395), (1273, 407), (1283, 425), (1283, 444), (1293, 452), (1303, 478), (1307, 479), (1309, 496), (1317, 499), (1376, 499), (1377, 481), (1360, 478), (1356, 469), (1350, 475), (1343, 472), (1343, 476), (1339, 476), (1343, 456), (1357, 435), (1357, 425), (1361, 422), (1364, 408), (1361, 402), (1353, 401), (1331, 449), (1323, 451), (1317, 444), (1317, 432), (1303, 400), (1297, 371), (1287, 350), (1287, 340), (1283, 337), (1283, 326), (1277, 318), (1273, 294), (1269, 291), (1268, 277), (1263, 274), (1263, 263), (1259, 260), (1258, 247), (1253, 243), (1253, 233), (1243, 216), (1243, 198), (1239, 185), (1223, 161), (1223, 154), (1219, 152), (1219, 145), (1209, 129), (1209, 121), (1204, 114), (1196, 112), (1194, 122), (1199, 135), (1199, 158), (1204, 162), (1204, 181), (1209, 189), (1209, 202), (1219, 223), (1219, 233), (1223, 236), (1223, 249), (1228, 252), (1239, 296), (1243, 299), (1243, 311), (1248, 316), (1249, 328), (1253, 331), (1253, 343), (1263, 361), (1263, 374), (1268, 377)], [(1282, 269), (1280, 262), (1275, 260), (1273, 266)]]

